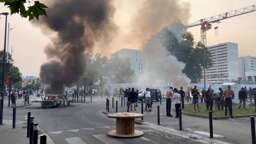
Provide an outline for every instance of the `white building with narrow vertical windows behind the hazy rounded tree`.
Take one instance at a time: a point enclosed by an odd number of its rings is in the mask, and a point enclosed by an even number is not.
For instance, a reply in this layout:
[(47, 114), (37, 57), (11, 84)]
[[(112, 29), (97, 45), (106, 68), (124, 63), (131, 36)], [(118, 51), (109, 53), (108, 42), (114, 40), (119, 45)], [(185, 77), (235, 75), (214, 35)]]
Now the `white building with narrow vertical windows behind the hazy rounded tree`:
[(142, 58), (142, 50), (132, 50), (132, 49), (121, 49), (116, 51), (114, 54), (110, 55), (110, 58), (114, 56), (118, 56), (118, 58), (130, 58), (132, 69), (137, 74), (139, 81), (141, 82), (140, 78), (144, 78), (146, 74), (146, 63), (143, 61)]

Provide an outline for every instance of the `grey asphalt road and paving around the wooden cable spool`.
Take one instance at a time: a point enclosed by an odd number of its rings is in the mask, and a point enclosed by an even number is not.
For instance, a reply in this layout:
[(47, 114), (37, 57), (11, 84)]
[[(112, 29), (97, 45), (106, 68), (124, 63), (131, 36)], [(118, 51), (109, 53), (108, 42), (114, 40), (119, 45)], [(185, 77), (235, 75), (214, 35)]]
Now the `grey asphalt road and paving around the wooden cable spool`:
[[(115, 98), (115, 100), (118, 100)], [(41, 108), (40, 103), (17, 108), (16, 120), (26, 121), (28, 111), (34, 116), (34, 122), (47, 133), (55, 144), (159, 144), (159, 143), (208, 143), (207, 141), (193, 140), (185, 133), (178, 134), (178, 119), (161, 115), (160, 126), (136, 125), (136, 130), (142, 130), (144, 136), (132, 139), (118, 139), (106, 136), (106, 132), (114, 130), (116, 120), (102, 114), (106, 108), (105, 98), (93, 98), (93, 102), (71, 103), (71, 106), (61, 108)], [(112, 103), (111, 103), (112, 104)], [(110, 104), (110, 105), (111, 105)], [(145, 112), (144, 120), (150, 124), (157, 123), (156, 105), (153, 104), (152, 112)], [(173, 104), (172, 104), (173, 105)], [(165, 103), (161, 105), (164, 107)], [(123, 107), (123, 110), (126, 108)], [(140, 107), (138, 111), (140, 112)], [(172, 113), (174, 114), (174, 113)], [(209, 132), (209, 120), (191, 116), (182, 117), (185, 132), (203, 136)], [(12, 119), (12, 110), (4, 109), (4, 119)], [(250, 118), (236, 118), (234, 120), (213, 120), (214, 138), (232, 144), (250, 144)], [(164, 130), (163, 128), (172, 128)], [(217, 134), (217, 138), (215, 136)], [(206, 138), (209, 136), (205, 136)], [(212, 142), (214, 143), (214, 142)]]

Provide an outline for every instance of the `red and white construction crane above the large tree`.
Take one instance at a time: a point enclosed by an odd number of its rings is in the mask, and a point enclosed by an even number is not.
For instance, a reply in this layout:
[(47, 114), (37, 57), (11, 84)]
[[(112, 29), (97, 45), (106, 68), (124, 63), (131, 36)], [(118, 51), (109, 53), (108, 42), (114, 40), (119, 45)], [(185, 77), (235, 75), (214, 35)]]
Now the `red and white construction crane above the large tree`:
[[(234, 10), (231, 12), (226, 12), (224, 14), (219, 14), (216, 16), (212, 16), (209, 18), (204, 18), (201, 20), (198, 20), (196, 22), (193, 22), (192, 24), (187, 25), (187, 28), (191, 28), (194, 26), (200, 26), (201, 25), (201, 42), (206, 46), (206, 30), (210, 30), (212, 28), (212, 23), (220, 23), (220, 20), (225, 20), (227, 18), (232, 18), (235, 16), (240, 16), (242, 14), (247, 14), (249, 12), (255, 12), (256, 11), (256, 5), (248, 6), (246, 8), (240, 8), (238, 10)], [(218, 29), (218, 26), (214, 27), (215, 30)], [(216, 33), (215, 33), (216, 34)]]

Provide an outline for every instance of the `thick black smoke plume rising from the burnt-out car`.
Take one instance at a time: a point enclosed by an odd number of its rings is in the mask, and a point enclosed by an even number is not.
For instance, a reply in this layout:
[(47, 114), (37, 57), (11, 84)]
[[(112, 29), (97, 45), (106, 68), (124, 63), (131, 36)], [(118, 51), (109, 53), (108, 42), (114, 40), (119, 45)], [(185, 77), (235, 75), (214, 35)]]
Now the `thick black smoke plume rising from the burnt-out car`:
[(86, 72), (84, 51), (97, 40), (110, 40), (117, 30), (110, 0), (54, 0), (48, 17), (34, 22), (42, 31), (56, 32), (44, 50), (48, 62), (40, 69), (46, 94), (62, 94), (64, 86), (82, 80)]

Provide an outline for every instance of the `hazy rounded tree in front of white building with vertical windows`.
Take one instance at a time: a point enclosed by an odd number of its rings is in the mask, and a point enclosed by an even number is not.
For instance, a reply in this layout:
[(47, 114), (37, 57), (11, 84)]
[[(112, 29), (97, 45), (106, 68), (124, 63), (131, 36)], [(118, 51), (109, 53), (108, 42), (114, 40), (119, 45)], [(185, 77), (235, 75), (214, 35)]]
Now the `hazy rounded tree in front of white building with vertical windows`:
[(121, 59), (114, 56), (114, 58), (110, 59), (108, 68), (106, 78), (110, 83), (129, 83), (136, 82), (137, 80), (137, 76), (130, 63), (130, 58)]

